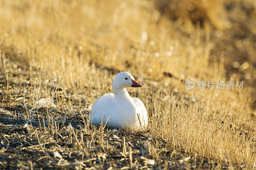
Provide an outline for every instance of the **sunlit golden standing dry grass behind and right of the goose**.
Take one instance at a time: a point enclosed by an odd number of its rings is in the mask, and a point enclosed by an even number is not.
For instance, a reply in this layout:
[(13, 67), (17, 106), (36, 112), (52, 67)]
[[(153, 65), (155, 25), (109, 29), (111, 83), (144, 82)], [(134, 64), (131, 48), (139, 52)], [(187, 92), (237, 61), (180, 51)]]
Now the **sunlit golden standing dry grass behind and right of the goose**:
[(0, 16), (2, 61), (9, 54), (31, 72), (42, 68), (43, 81), (61, 76), (60, 87), (80, 91), (84, 107), (112, 92), (115, 69), (128, 71), (143, 85), (130, 92), (146, 105), (148, 134), (168, 141), (170, 149), (211, 159), (217, 168), (255, 167), (256, 127), (246, 87), (186, 91), (184, 82), (163, 76), (225, 80), (223, 63), (209, 63), (209, 24), (186, 37), (153, 1), (8, 0), (1, 1)]

